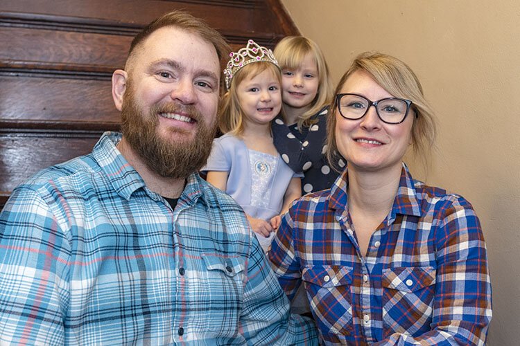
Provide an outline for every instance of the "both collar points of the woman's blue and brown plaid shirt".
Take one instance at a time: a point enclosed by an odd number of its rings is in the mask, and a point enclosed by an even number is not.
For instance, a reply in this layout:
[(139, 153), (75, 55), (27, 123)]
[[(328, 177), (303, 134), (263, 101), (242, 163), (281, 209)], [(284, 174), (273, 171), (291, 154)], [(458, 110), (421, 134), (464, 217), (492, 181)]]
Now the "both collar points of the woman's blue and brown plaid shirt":
[[(348, 168), (345, 168), (338, 179), (331, 187), (329, 199), (329, 208), (335, 210), (346, 210), (347, 208), (347, 188), (349, 185)], [(399, 188), (390, 212), (389, 221), (395, 219), (397, 214), (413, 215), (420, 217), (422, 215), (419, 194), (415, 190), (415, 181), (405, 163), (401, 169), (401, 179), (399, 179)]]

